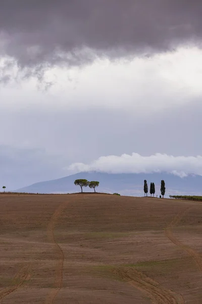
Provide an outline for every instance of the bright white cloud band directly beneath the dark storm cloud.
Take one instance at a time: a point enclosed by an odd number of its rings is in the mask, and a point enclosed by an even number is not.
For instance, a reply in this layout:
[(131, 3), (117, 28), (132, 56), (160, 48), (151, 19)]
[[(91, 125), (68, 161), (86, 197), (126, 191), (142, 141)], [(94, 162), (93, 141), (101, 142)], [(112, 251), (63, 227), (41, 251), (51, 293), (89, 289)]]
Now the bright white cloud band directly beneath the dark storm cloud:
[[(1, 71), (8, 59), (0, 58)], [(1, 108), (126, 109), (134, 114), (185, 106), (202, 95), (202, 50), (178, 48), (173, 52), (131, 60), (97, 59), (82, 68), (52, 67), (44, 80), (35, 78), (13, 81), (16, 73), (10, 65), (7, 78), (12, 81), (1, 88)], [(17, 76), (16, 76), (17, 77)], [(46, 92), (43, 89), (48, 84)], [(22, 90), (23, 86), (23, 90)], [(37, 87), (41, 90), (37, 90)]]

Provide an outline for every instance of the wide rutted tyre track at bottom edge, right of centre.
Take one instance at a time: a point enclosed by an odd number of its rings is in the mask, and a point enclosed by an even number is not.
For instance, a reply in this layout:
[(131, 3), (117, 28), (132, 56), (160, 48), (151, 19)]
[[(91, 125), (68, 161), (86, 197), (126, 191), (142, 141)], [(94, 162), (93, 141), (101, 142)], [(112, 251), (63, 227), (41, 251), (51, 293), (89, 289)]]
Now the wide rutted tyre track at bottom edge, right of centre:
[(158, 282), (147, 277), (134, 268), (124, 268), (116, 270), (123, 280), (135, 288), (143, 291), (151, 299), (153, 304), (184, 304), (182, 295), (173, 292), (172, 290), (165, 289)]

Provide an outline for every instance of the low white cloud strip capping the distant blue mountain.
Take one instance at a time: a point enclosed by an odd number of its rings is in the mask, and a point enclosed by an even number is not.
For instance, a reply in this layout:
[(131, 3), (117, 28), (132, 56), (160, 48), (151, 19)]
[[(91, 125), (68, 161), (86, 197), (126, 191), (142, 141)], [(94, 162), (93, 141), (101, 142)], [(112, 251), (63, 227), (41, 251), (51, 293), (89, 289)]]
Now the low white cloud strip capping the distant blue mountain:
[(171, 156), (155, 154), (141, 156), (137, 153), (121, 156), (103, 156), (90, 164), (74, 163), (71, 172), (99, 171), (108, 173), (152, 173), (167, 172), (185, 177), (189, 174), (202, 175), (202, 156)]

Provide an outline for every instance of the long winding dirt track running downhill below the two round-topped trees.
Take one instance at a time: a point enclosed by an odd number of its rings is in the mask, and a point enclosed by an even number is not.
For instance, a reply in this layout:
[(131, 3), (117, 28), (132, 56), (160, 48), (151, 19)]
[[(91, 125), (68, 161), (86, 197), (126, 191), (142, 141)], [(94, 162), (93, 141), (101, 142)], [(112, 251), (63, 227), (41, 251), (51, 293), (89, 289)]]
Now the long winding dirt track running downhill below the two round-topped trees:
[(55, 281), (54, 281), (54, 288), (51, 290), (51, 292), (47, 295), (45, 299), (45, 304), (53, 304), (55, 301), (56, 296), (61, 290), (62, 284), (63, 284), (63, 264), (64, 264), (64, 253), (60, 245), (57, 243), (54, 230), (57, 223), (57, 220), (59, 219), (61, 212), (63, 209), (65, 209), (67, 206), (66, 203), (61, 204), (54, 214), (51, 217), (51, 220), (49, 221), (49, 224), (47, 226), (47, 238), (50, 243), (53, 243), (55, 245), (55, 248), (58, 253), (58, 260), (56, 264), (56, 272), (55, 272)]

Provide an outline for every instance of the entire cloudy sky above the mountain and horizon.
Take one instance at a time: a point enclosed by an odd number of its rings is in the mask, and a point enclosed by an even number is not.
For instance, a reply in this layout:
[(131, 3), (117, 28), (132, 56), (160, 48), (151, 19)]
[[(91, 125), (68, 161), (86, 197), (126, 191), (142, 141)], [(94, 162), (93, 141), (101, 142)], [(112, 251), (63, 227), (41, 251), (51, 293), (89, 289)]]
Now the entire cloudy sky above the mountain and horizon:
[(0, 187), (83, 170), (202, 175), (202, 3), (7, 0)]

